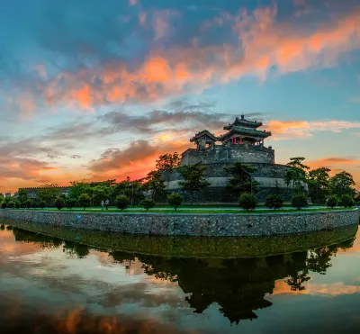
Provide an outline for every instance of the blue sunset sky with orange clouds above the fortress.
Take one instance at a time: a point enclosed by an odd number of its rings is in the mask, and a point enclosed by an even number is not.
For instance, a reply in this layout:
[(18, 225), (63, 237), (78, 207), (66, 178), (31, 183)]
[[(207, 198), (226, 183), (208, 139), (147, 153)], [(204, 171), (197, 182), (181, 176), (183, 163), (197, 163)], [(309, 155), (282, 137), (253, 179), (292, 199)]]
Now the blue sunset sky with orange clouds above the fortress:
[(242, 113), (360, 188), (358, 0), (0, 4), (0, 192), (146, 176)]

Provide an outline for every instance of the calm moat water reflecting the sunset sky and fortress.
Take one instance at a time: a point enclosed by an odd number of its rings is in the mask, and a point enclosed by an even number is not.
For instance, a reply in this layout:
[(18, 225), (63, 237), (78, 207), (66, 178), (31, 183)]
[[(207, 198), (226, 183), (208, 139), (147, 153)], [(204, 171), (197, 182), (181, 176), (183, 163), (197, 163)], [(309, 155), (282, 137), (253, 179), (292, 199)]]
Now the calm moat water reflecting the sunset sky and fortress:
[[(53, 231), (64, 240), (11, 225), (7, 221), (0, 230), (0, 333), (357, 333), (360, 328), (357, 227), (303, 239), (221, 244)], [(338, 243), (325, 246), (334, 238)], [(76, 242), (84, 240), (96, 246)], [(107, 243), (106, 251), (95, 249)], [(229, 244), (237, 254), (273, 255), (229, 258)], [(194, 257), (196, 248), (201, 257)], [(275, 255), (276, 249), (287, 251)]]

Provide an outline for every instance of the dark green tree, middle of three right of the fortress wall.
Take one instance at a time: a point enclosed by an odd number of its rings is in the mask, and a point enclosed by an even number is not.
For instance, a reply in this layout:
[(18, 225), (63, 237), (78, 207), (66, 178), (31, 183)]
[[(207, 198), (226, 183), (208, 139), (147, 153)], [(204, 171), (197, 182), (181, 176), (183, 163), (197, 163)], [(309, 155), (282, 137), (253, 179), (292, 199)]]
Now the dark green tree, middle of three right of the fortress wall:
[(312, 203), (325, 203), (330, 193), (329, 171), (327, 167), (320, 167), (309, 172), (308, 185)]

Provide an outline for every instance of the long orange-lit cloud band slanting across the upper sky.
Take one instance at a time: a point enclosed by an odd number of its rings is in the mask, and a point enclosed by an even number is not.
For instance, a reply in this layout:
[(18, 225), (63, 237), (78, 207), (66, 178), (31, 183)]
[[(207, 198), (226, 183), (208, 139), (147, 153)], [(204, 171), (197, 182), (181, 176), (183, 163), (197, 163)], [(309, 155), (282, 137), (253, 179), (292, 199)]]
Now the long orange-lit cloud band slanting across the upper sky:
[[(137, 68), (111, 61), (98, 68), (77, 73), (61, 73), (40, 87), (46, 101), (55, 104), (146, 103), (186, 92), (202, 92), (208, 86), (226, 83), (247, 75), (266, 79), (269, 68), (278, 73), (301, 71), (311, 67), (333, 67), (344, 53), (360, 47), (360, 10), (324, 23), (317, 32), (299, 31), (289, 23), (277, 23), (276, 6), (258, 8), (236, 16), (223, 14), (221, 20), (233, 22), (238, 44), (154, 49)], [(152, 22), (154, 41), (171, 30), (176, 13), (157, 13)], [(146, 15), (139, 17), (145, 22)], [(95, 78), (100, 79), (96, 80)]]

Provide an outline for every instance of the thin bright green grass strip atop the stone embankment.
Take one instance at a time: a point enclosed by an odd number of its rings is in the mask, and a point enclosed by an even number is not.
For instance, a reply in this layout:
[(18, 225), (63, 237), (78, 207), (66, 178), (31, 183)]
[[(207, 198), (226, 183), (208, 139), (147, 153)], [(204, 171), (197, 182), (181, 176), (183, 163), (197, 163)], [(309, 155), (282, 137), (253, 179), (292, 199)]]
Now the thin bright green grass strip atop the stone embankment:
[[(321, 211), (339, 211), (339, 210), (351, 210), (351, 209), (355, 209), (355, 208), (334, 208), (334, 209), (328, 209), (328, 208), (320, 208), (320, 209), (302, 209), (302, 210), (295, 210), (295, 209), (288, 209), (288, 210), (257, 210), (257, 211), (243, 211), (241, 209), (238, 210), (179, 210), (179, 211), (175, 211), (175, 210), (161, 210), (161, 209), (152, 209), (149, 210), (149, 213), (233, 213), (233, 214), (248, 214), (248, 213), (279, 213), (279, 212), (321, 212)], [(11, 209), (10, 209), (11, 210)], [(25, 211), (30, 210), (30, 211), (51, 211), (51, 212), (58, 212), (58, 209), (56, 208), (49, 208), (49, 209), (23, 209)], [(62, 209), (60, 212), (90, 212), (90, 213), (106, 213), (106, 212), (118, 212), (118, 213), (146, 213), (146, 211), (144, 210), (136, 210), (136, 208), (130, 208), (124, 211), (121, 211), (119, 209), (109, 209), (109, 210), (82, 210), (79, 208), (75, 208), (73, 210), (68, 210), (68, 209)]]

